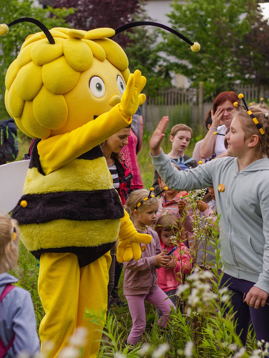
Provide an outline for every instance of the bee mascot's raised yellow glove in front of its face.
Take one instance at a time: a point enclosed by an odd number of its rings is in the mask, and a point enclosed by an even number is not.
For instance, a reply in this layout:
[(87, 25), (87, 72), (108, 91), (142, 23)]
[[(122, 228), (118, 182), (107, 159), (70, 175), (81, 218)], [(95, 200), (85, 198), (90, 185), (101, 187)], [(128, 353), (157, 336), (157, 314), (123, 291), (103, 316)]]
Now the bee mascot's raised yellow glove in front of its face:
[(146, 77), (141, 76), (141, 72), (138, 69), (130, 74), (121, 103), (119, 103), (119, 111), (124, 118), (128, 119), (132, 117), (137, 111), (138, 106), (145, 102), (146, 96), (140, 92), (144, 88), (146, 81)]

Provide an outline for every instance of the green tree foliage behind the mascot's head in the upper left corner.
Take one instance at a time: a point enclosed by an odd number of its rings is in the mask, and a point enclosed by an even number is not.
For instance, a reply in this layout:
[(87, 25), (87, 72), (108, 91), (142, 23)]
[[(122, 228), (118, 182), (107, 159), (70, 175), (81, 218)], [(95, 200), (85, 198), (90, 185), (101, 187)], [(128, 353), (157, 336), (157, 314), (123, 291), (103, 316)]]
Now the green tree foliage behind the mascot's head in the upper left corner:
[[(22, 17), (32, 17), (41, 21), (48, 29), (51, 29), (52, 27), (65, 26), (64, 18), (73, 11), (73, 9), (41, 9), (34, 6), (32, 0), (1, 0), (0, 23), (9, 24), (11, 21)], [(41, 30), (36, 25), (23, 22), (11, 26), (9, 33), (0, 38), (0, 119), (9, 117), (4, 103), (6, 71), (11, 62), (17, 57), (25, 38), (39, 31)]]

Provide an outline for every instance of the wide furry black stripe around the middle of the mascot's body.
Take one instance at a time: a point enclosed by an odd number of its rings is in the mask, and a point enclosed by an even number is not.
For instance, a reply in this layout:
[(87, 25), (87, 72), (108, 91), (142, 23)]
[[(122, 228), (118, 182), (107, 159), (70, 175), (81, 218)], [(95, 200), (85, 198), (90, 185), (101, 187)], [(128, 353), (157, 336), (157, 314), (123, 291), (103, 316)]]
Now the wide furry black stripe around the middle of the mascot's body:
[[(20, 205), (22, 200), (27, 201), (27, 207)], [(123, 216), (123, 206), (115, 189), (26, 194), (12, 213), (19, 224), (39, 224), (57, 219), (93, 221)]]

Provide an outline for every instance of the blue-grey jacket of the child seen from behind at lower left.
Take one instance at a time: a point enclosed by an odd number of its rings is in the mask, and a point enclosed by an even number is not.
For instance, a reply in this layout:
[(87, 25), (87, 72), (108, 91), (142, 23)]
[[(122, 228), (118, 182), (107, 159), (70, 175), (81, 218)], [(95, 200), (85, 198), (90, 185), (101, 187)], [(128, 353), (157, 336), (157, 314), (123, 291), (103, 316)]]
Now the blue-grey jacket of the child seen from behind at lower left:
[[(6, 284), (18, 282), (16, 277), (0, 274), (0, 295)], [(15, 358), (18, 353), (31, 357), (39, 353), (36, 315), (31, 295), (21, 287), (15, 287), (0, 304), (0, 337), (6, 347), (15, 333), (13, 344), (5, 358)]]

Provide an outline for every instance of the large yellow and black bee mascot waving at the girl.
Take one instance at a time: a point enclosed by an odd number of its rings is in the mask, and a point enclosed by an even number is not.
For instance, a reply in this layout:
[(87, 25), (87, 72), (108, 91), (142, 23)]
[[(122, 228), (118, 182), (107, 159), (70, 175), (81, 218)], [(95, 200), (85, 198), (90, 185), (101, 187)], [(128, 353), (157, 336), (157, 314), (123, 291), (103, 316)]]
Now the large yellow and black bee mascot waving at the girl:
[(6, 73), (5, 105), (26, 135), (36, 138), (23, 197), (13, 211), (21, 239), (40, 258), (38, 293), (45, 316), (41, 351), (56, 357), (76, 327), (87, 328), (82, 357), (96, 357), (102, 332), (84, 319), (85, 308), (107, 311), (110, 249), (117, 260), (138, 260), (137, 233), (113, 188), (99, 144), (131, 124), (145, 101), (146, 78), (129, 72), (115, 30), (53, 28), (29, 35)]

